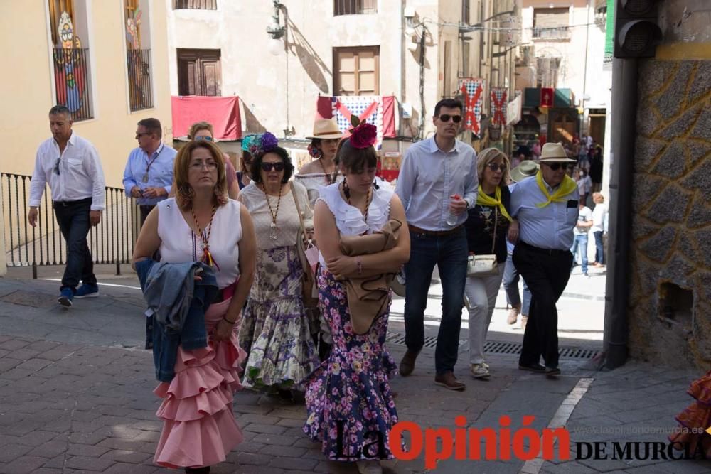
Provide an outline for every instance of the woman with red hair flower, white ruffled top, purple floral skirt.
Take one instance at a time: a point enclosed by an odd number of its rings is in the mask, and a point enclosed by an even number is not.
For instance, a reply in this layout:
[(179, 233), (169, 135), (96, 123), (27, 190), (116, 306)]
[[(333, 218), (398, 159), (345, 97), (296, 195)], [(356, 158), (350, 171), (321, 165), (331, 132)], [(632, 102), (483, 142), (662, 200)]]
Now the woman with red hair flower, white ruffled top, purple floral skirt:
[[(396, 366), (385, 349), (387, 312), (368, 333), (355, 334), (341, 281), (396, 273), (410, 256), (402, 203), (390, 185), (375, 181), (378, 156), (372, 146), (373, 129), (360, 125), (342, 142), (338, 157), (345, 180), (321, 188), (316, 201), (319, 306), (331, 328), (333, 347), (309, 379), (304, 425), (304, 432), (321, 442), (329, 459), (355, 461), (360, 473), (381, 473), (380, 459), (393, 458), (388, 438), (397, 411), (388, 380)], [(403, 223), (396, 247), (360, 257), (342, 254), (341, 235), (377, 232), (390, 219)]]

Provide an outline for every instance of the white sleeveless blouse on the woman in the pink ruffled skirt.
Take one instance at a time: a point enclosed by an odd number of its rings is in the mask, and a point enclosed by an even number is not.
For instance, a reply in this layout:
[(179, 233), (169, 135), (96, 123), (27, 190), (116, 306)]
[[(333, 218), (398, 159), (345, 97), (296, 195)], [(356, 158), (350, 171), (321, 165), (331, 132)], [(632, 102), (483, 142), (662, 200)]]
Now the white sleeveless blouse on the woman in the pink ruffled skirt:
[[(201, 259), (201, 240), (185, 221), (175, 198), (158, 203), (158, 235), (161, 237), (161, 261), (171, 264), (196, 262)], [(210, 253), (220, 266), (215, 266), (218, 288), (230, 286), (240, 276), (240, 249), (242, 239), (241, 204), (235, 200), (219, 206), (215, 211), (210, 231)]]

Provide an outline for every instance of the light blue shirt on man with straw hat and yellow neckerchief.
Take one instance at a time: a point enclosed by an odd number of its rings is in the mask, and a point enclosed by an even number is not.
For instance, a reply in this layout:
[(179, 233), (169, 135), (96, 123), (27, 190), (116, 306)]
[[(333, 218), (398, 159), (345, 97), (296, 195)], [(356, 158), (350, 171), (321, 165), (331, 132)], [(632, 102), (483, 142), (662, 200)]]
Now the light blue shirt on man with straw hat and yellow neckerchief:
[[(548, 193), (557, 188), (543, 181)], [(535, 176), (516, 183), (511, 190), (511, 216), (518, 220), (518, 239), (540, 249), (568, 250), (573, 244), (573, 229), (577, 224), (579, 193), (577, 186), (561, 203), (545, 203)]]

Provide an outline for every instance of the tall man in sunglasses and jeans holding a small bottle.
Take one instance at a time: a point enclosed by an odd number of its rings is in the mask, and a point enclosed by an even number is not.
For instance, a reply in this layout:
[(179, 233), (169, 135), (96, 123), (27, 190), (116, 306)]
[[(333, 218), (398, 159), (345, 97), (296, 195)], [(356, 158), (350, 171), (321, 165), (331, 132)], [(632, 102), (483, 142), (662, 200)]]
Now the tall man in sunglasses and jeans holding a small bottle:
[[(410, 227), (410, 262), (405, 264), (405, 344), (400, 374), (410, 375), (424, 345), (424, 308), (437, 265), (442, 281), (442, 320), (434, 355), (434, 383), (464, 390), (454, 377), (459, 352), (461, 302), (466, 280), (466, 211), (474, 207), (479, 180), (476, 153), (456, 139), (464, 107), (443, 99), (434, 107), (437, 133), (410, 146), (395, 193)], [(451, 213), (451, 216), (449, 214)]]

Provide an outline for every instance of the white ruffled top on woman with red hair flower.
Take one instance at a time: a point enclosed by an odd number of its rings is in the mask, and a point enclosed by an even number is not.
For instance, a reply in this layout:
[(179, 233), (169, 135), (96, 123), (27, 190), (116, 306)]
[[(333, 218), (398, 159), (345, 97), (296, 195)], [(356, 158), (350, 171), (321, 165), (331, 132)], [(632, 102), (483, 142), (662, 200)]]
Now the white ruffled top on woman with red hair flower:
[[(348, 204), (341, 196), (338, 189), (339, 183), (319, 188), (319, 198), (316, 202), (324, 201), (336, 219), (336, 227), (341, 235), (361, 235), (363, 232), (372, 234), (383, 228), (390, 220), (390, 200), (395, 190), (390, 183), (380, 178), (375, 178), (378, 189), (374, 190), (373, 200), (368, 206), (368, 222), (365, 222), (360, 209)], [(324, 256), (319, 252), (319, 262), (326, 265)]]

